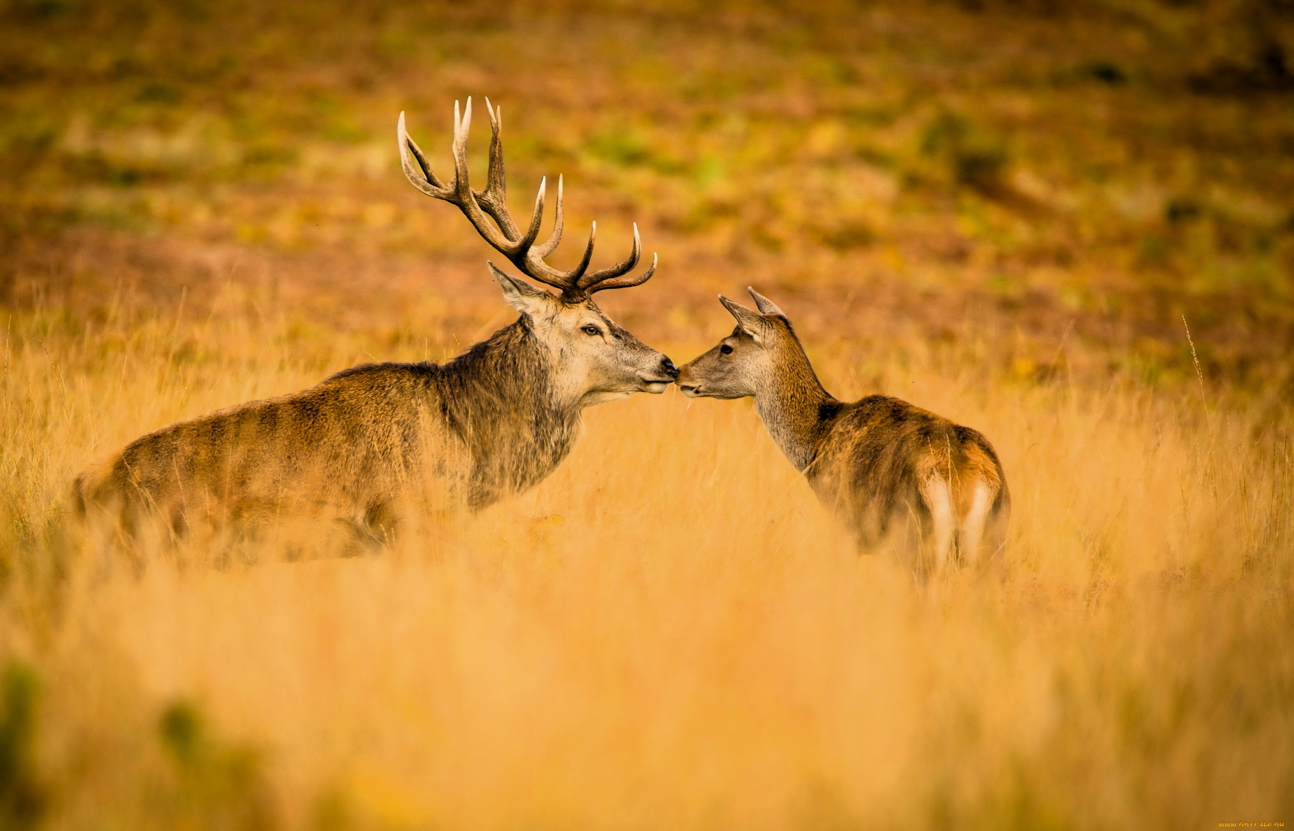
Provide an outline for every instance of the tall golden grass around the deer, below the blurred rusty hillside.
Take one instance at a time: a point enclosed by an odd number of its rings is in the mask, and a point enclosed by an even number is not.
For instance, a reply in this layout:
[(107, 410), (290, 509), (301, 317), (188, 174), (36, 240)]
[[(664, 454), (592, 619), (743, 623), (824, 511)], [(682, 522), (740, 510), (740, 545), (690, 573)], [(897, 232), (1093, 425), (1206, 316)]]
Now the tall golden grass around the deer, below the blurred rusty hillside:
[(859, 557), (747, 403), (669, 393), (590, 410), (533, 492), (380, 554), (285, 562), (302, 542), (287, 540), (214, 564), (159, 549), (137, 575), (69, 531), (79, 466), (382, 347), (241, 315), (13, 315), (6, 822), (1294, 818), (1288, 425), (1192, 386), (1021, 381), (923, 343), (902, 362), (897, 347), (811, 346), (837, 395), (872, 391), (861, 368), (884, 365), (885, 391), (991, 438), (1014, 500), (1000, 570), (920, 588)]

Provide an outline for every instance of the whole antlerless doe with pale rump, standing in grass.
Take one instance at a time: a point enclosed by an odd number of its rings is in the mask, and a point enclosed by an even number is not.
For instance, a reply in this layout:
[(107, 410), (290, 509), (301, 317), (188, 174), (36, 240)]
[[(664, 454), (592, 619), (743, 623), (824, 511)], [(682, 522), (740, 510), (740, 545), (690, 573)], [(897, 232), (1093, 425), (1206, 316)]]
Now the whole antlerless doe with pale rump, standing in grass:
[(678, 369), (688, 397), (753, 397), (754, 409), (819, 501), (863, 551), (895, 540), (924, 579), (930, 560), (968, 566), (1005, 544), (1011, 493), (989, 440), (888, 395), (851, 404), (818, 381), (791, 318), (748, 287), (756, 309), (719, 295), (732, 334)]

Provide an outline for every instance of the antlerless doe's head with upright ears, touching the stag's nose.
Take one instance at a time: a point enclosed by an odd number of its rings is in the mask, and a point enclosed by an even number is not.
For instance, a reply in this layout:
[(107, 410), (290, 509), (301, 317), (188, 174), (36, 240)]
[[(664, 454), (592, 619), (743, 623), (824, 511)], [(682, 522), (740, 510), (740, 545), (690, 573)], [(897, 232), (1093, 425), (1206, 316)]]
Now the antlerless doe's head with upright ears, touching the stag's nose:
[(708, 352), (678, 368), (675, 383), (688, 397), (756, 396), (776, 379), (779, 365), (800, 353), (800, 342), (785, 313), (769, 298), (747, 287), (758, 311), (719, 295), (736, 326)]

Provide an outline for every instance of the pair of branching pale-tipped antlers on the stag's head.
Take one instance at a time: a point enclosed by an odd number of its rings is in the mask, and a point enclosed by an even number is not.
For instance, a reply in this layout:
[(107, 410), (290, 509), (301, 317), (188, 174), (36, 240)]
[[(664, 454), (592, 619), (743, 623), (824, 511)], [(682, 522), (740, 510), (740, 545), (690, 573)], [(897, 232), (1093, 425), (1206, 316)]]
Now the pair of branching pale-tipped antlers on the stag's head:
[[(494, 246), (499, 254), (506, 256), (512, 265), (523, 274), (560, 289), (567, 298), (578, 298), (594, 291), (606, 289), (629, 289), (638, 286), (656, 272), (656, 255), (652, 255), (651, 268), (642, 274), (621, 277), (638, 264), (642, 255), (642, 242), (638, 238), (638, 223), (634, 223), (634, 246), (629, 256), (615, 265), (599, 268), (589, 272), (589, 261), (593, 259), (593, 241), (598, 233), (598, 223), (593, 223), (589, 229), (589, 242), (585, 245), (584, 256), (580, 263), (568, 272), (558, 271), (543, 261), (543, 258), (556, 250), (562, 242), (562, 232), (565, 227), (565, 215), (562, 210), (562, 177), (558, 177), (558, 202), (553, 220), (553, 233), (549, 238), (534, 245), (540, 234), (540, 224), (543, 220), (543, 193), (547, 177), (540, 180), (540, 193), (534, 198), (534, 210), (531, 214), (531, 223), (523, 233), (512, 221), (512, 215), (507, 211), (507, 180), (503, 175), (503, 142), (499, 140), (499, 124), (502, 122), (502, 107), (492, 107), (489, 98), (485, 98), (485, 111), (489, 113), (490, 142), (489, 142), (489, 172), (485, 176), (485, 189), (475, 190), (467, 181), (467, 129), (472, 122), (472, 100), (467, 98), (463, 114), (458, 115), (458, 102), (454, 101), (454, 177), (449, 184), (441, 183), (431, 171), (427, 157), (405, 132), (404, 113), (400, 113), (400, 122), (396, 127), (396, 136), (400, 141), (400, 164), (405, 176), (414, 188), (428, 197), (444, 199), (458, 206), (463, 216), (472, 224), (476, 232)], [(413, 159), (410, 159), (413, 154)], [(417, 166), (414, 166), (417, 161)], [(487, 220), (489, 216), (493, 223)]]

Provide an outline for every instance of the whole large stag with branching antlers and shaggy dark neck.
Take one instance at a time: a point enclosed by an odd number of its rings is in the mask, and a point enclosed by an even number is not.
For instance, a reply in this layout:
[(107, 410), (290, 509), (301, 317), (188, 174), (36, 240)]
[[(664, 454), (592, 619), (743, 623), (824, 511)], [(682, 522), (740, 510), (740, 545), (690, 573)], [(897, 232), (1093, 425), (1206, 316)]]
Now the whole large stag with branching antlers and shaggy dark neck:
[[(593, 300), (598, 291), (639, 286), (634, 224), (629, 256), (590, 271), (597, 223), (575, 268), (545, 260), (564, 229), (562, 179), (554, 224), (537, 242), (546, 177), (531, 219), (507, 208), (502, 111), (490, 120), (484, 189), (467, 176), (472, 100), (454, 102), (453, 175), (443, 181), (405, 129), (396, 137), (405, 176), (423, 194), (455, 206), (472, 228), (534, 286), (487, 261), (518, 318), (444, 362), (379, 362), (342, 370), (318, 384), (180, 421), (141, 436), (82, 472), (79, 515), (106, 513), (123, 528), (154, 516), (175, 533), (199, 516), (217, 524), (311, 515), (340, 520), (384, 540), (402, 511), (436, 494), (450, 510), (481, 509), (543, 480), (571, 452), (585, 408), (635, 392), (659, 395), (673, 361), (619, 326)], [(437, 504), (440, 504), (437, 502)], [(439, 509), (437, 509), (439, 510)]]

